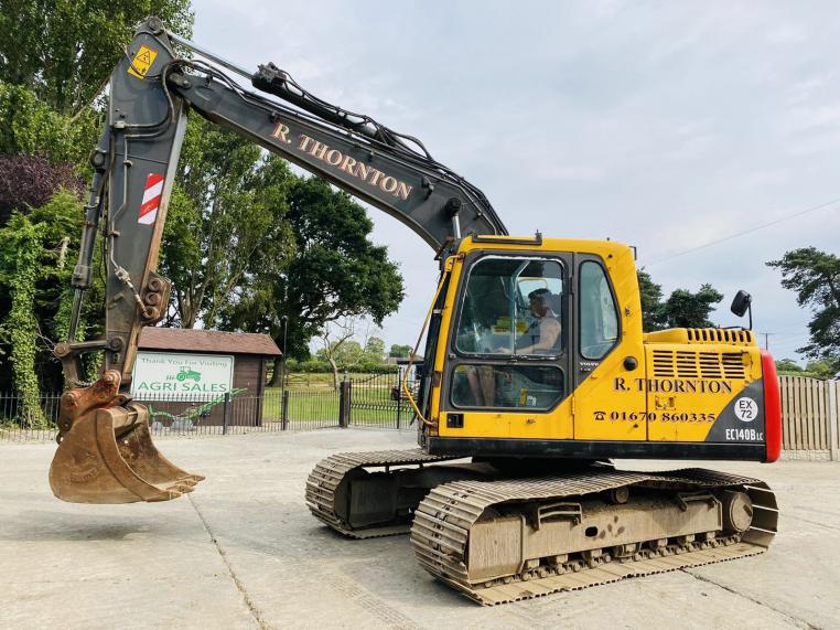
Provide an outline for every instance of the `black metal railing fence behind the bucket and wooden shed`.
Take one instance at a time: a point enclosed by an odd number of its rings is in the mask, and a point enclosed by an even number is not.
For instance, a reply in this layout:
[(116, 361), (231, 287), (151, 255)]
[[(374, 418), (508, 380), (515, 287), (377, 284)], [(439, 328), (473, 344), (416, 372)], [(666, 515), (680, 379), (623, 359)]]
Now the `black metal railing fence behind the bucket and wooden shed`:
[[(417, 384), (410, 382), (412, 392)], [(61, 393), (42, 394), (39, 406), (24, 407), (19, 394), (0, 393), (0, 441), (47, 441), (55, 438)], [(269, 388), (259, 396), (234, 391), (213, 397), (147, 394), (137, 402), (149, 409), (155, 436), (243, 434), (367, 426), (406, 428), (413, 413), (401, 393), (400, 375), (345, 376), (332, 386)]]

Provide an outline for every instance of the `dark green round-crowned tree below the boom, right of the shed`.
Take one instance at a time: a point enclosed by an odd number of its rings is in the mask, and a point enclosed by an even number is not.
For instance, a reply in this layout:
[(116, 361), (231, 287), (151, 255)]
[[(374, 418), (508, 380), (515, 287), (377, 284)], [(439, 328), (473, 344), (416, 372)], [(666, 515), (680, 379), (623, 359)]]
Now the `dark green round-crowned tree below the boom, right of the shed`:
[(369, 239), (373, 223), (365, 209), (316, 178), (289, 183), (286, 220), (293, 256), (283, 269), (266, 266), (249, 275), (224, 321), (231, 329), (268, 332), (282, 345), (287, 316), (282, 350), (305, 359), (309, 341), (330, 322), (366, 314), (380, 324), (399, 308), (403, 288), (387, 248)]

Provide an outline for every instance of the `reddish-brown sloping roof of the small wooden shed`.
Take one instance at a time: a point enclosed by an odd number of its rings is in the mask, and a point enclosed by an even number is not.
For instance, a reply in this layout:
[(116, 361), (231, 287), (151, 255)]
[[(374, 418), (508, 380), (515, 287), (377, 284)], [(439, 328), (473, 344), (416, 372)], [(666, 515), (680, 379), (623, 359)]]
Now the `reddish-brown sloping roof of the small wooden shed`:
[(260, 354), (280, 356), (282, 352), (267, 334), (254, 332), (223, 332), (185, 328), (152, 328), (140, 331), (140, 350), (227, 352), (230, 354)]

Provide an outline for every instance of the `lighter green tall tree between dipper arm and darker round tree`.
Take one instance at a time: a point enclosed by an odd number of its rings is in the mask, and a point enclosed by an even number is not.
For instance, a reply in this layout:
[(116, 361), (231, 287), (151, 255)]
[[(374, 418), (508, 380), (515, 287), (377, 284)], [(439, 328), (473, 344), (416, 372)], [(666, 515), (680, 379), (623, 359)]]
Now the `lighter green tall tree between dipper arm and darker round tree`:
[(261, 158), (247, 139), (190, 120), (161, 248), (160, 268), (173, 282), (170, 323), (214, 328), (251, 288), (249, 275), (276, 277), (288, 265), (293, 179), (283, 160)]

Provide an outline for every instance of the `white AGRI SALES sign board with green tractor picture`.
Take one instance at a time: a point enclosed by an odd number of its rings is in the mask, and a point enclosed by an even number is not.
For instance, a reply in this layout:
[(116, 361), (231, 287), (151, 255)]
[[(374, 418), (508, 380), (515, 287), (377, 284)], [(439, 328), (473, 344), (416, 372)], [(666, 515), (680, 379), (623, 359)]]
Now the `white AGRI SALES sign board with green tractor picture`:
[(143, 401), (209, 401), (233, 386), (230, 355), (138, 352), (131, 395)]

